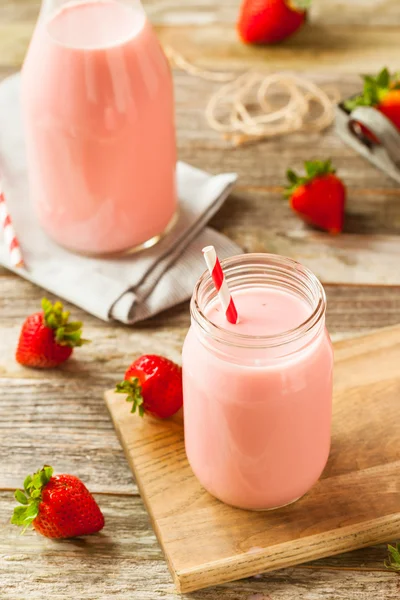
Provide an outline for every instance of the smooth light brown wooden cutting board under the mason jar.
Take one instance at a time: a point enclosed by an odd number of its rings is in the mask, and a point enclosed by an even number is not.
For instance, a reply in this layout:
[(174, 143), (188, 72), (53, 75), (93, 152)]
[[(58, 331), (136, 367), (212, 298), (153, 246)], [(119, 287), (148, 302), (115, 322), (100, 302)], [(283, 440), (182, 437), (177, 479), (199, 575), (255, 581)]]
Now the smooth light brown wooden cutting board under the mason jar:
[(400, 536), (400, 326), (335, 344), (328, 465), (304, 498), (271, 512), (231, 508), (202, 489), (181, 416), (140, 419), (125, 396), (105, 399), (181, 592)]

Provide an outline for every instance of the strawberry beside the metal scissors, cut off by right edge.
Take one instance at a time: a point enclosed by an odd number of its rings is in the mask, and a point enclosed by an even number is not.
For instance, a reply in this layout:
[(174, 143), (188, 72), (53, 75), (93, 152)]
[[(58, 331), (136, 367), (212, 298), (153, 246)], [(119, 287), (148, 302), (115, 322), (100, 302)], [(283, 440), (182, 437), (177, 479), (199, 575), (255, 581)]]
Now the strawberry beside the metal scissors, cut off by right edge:
[[(373, 106), (384, 114), (400, 130), (400, 76), (391, 75), (384, 68), (378, 75), (364, 75), (364, 90), (359, 96), (350, 98), (344, 105), (352, 111), (357, 106)], [(379, 143), (376, 136), (364, 125), (360, 125), (363, 134), (372, 142)]]

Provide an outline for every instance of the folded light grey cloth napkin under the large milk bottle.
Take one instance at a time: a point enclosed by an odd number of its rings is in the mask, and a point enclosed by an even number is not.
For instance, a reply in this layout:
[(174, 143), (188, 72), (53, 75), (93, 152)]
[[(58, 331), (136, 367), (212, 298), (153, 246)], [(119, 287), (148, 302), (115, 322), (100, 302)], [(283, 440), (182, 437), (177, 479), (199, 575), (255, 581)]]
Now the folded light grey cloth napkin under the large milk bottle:
[(211, 176), (182, 162), (177, 167), (178, 222), (156, 246), (118, 259), (86, 258), (59, 248), (43, 233), (28, 201), (19, 82), (14, 75), (0, 85), (0, 171), (27, 270), (10, 266), (4, 243), (3, 266), (100, 319), (135, 323), (191, 296), (204, 271), (204, 246), (214, 245), (221, 258), (241, 252), (224, 235), (205, 228), (236, 174)]

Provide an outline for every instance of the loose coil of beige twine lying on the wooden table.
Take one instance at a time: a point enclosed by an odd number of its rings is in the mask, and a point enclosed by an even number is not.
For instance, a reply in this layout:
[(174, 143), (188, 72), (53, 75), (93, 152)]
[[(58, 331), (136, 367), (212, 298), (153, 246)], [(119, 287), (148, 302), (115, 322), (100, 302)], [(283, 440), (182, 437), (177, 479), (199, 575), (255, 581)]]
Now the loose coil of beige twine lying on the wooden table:
[(322, 131), (335, 117), (340, 94), (292, 73), (250, 70), (239, 76), (207, 71), (193, 65), (171, 47), (171, 63), (186, 73), (221, 82), (206, 106), (209, 126), (234, 146), (297, 131)]

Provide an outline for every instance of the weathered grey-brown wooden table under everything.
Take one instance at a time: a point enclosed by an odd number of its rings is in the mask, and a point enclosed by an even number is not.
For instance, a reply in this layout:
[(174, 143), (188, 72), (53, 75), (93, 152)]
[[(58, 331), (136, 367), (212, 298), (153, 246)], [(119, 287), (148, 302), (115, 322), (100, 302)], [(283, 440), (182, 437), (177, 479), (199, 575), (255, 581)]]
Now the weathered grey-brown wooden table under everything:
[[(348, 95), (357, 73), (400, 66), (397, 0), (314, 0), (312, 25), (274, 48), (241, 45), (233, 23), (238, 0), (148, 0), (161, 41), (206, 68), (298, 69)], [(19, 68), (38, 0), (2, 0), (0, 75)], [(227, 149), (204, 120), (215, 84), (175, 73), (179, 156), (210, 172), (239, 173), (235, 193), (213, 221), (247, 251), (278, 252), (308, 264), (324, 281), (334, 338), (400, 322), (400, 189), (337, 136), (292, 135)], [(332, 157), (349, 188), (346, 231), (307, 229), (281, 196), (287, 167)], [(38, 372), (14, 360), (19, 328), (43, 291), (0, 271), (0, 598), (172, 600), (177, 598), (102, 393), (132, 357), (167, 353), (179, 360), (188, 305), (134, 328), (85, 320), (94, 343), (63, 368)], [(8, 525), (12, 490), (43, 463), (81, 477), (107, 520), (100, 535), (52, 542)], [(400, 532), (399, 532), (400, 536)], [(400, 579), (383, 567), (385, 546), (320, 560), (192, 594), (196, 600), (386, 600)], [(258, 595), (259, 594), (259, 595)], [(189, 596), (187, 596), (189, 598)]]

